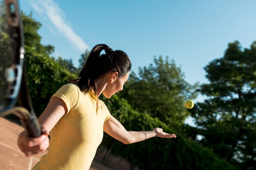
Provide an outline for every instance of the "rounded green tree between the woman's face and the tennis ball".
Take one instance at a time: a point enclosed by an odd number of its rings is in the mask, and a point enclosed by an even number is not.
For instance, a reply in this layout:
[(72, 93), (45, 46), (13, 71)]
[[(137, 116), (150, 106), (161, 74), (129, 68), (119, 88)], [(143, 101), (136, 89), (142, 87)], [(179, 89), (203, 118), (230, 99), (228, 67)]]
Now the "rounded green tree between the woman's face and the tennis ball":
[(154, 64), (139, 68), (139, 76), (131, 73), (123, 92), (130, 105), (141, 113), (157, 117), (168, 126), (181, 126), (189, 112), (184, 107), (186, 99), (196, 97), (195, 87), (184, 80), (184, 74), (168, 57), (154, 58)]

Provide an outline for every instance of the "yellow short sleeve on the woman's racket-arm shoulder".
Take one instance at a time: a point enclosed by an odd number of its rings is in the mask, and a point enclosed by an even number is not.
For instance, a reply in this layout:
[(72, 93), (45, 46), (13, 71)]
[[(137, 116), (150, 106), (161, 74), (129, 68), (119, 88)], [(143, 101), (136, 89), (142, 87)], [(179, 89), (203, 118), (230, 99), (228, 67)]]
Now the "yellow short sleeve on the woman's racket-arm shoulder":
[[(67, 106), (67, 113), (76, 109), (77, 103), (79, 100), (79, 88), (73, 84), (66, 84), (63, 85), (58, 91), (52, 96), (61, 98), (66, 106)], [(52, 99), (51, 98), (51, 99)]]

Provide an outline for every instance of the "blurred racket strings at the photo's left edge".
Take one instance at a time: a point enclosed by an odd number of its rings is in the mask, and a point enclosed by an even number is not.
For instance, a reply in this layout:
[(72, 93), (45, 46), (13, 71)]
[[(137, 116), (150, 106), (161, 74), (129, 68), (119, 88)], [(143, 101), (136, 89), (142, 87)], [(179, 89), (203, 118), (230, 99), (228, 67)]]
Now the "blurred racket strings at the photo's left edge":
[(18, 96), (15, 87), (20, 69), (16, 67), (16, 59), (13, 59), (15, 50), (12, 50), (12, 46), (17, 44), (11, 32), (15, 33), (15, 30), (10, 29), (4, 1), (0, 0), (0, 110), (13, 105), (14, 95)]

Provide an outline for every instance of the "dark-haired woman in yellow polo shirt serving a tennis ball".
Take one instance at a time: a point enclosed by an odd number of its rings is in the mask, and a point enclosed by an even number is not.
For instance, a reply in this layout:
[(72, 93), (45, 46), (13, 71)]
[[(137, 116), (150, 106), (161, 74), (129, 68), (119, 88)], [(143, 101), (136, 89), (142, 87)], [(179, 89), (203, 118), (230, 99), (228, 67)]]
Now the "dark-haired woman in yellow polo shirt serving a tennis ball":
[[(102, 50), (106, 54), (100, 55)], [(29, 138), (23, 131), (18, 137), (18, 146), (27, 156), (49, 147), (33, 170), (88, 170), (103, 138), (103, 131), (124, 144), (150, 137), (176, 137), (160, 128), (126, 131), (98, 99), (100, 94), (110, 98), (122, 90), (130, 69), (131, 62), (125, 52), (113, 51), (106, 44), (92, 49), (79, 79), (72, 79), (72, 83), (63, 85), (38, 118), (43, 134)], [(49, 132), (50, 142), (47, 137)]]

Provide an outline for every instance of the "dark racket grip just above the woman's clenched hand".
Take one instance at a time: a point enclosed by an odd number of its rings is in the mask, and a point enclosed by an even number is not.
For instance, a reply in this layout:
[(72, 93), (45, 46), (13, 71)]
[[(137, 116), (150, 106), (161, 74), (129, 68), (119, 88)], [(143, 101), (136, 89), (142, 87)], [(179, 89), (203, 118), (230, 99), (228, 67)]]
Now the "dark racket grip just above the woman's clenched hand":
[(39, 137), (42, 132), (36, 117), (31, 116), (28, 120), (22, 121), (27, 130), (28, 137)]

